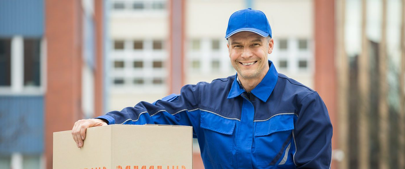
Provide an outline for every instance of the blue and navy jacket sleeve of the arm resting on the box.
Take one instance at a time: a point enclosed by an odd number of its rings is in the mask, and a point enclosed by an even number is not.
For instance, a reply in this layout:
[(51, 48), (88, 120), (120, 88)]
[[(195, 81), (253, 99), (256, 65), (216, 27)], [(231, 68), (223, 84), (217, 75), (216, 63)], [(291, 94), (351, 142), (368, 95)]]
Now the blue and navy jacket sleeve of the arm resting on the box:
[[(200, 84), (185, 85), (180, 94), (171, 94), (154, 103), (140, 102), (134, 107), (111, 111), (96, 117), (107, 120), (108, 124), (169, 124), (199, 126)], [(198, 123), (198, 124), (197, 124)]]

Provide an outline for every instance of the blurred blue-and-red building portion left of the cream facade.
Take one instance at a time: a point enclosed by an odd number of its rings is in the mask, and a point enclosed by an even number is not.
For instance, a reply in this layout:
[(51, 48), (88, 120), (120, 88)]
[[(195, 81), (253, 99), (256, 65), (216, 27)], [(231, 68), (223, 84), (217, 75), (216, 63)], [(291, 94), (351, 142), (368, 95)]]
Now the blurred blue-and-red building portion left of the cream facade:
[(103, 3), (0, 1), (1, 169), (51, 169), (52, 133), (104, 112)]

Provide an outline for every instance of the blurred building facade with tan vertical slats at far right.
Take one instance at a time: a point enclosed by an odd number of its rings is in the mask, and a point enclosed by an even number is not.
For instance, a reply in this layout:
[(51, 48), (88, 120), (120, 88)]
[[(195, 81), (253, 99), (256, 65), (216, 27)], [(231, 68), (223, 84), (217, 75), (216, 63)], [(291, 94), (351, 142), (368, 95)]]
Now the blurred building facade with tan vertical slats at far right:
[(335, 39), (335, 160), (342, 169), (404, 169), (405, 1), (335, 2), (324, 7), (336, 11), (336, 34), (323, 36)]

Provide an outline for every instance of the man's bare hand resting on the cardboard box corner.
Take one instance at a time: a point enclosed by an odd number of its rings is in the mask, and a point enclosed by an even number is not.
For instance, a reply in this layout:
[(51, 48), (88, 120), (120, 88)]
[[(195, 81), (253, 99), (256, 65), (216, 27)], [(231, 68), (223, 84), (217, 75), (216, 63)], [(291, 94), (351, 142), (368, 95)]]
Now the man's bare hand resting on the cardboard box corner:
[(107, 126), (108, 124), (101, 119), (83, 119), (75, 122), (72, 128), (72, 137), (77, 147), (83, 146), (83, 140), (86, 138), (86, 129), (95, 126)]

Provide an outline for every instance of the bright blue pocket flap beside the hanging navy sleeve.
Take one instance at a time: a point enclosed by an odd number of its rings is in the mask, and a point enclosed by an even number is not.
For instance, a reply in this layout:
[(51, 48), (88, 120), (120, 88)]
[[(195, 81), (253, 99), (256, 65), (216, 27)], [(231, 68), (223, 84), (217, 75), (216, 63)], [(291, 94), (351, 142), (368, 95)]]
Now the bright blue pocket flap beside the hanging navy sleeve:
[(294, 129), (295, 114), (279, 114), (269, 120), (256, 122), (255, 136), (269, 135), (278, 131), (286, 131)]

